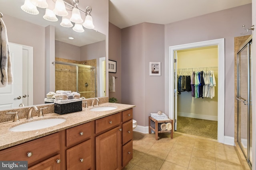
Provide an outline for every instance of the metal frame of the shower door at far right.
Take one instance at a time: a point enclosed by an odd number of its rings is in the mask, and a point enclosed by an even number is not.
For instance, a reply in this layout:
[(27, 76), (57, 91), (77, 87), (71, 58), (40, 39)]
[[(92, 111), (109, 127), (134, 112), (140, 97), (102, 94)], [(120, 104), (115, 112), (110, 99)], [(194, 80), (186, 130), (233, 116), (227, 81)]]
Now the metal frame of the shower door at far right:
[[(252, 73), (252, 67), (251, 67), (251, 61), (250, 61), (250, 57), (251, 57), (251, 44), (252, 44), (252, 37), (249, 37), (249, 39), (241, 46), (240, 50), (237, 53), (237, 59), (236, 59), (236, 70), (237, 70), (237, 95), (239, 95), (238, 93), (240, 92), (240, 72), (239, 72), (239, 54), (246, 49), (247, 47), (247, 66), (248, 66), (248, 92), (247, 92), (247, 100), (241, 98), (241, 96), (236, 96), (236, 100), (237, 100), (237, 124), (239, 122), (239, 102), (244, 102), (244, 105), (247, 105), (247, 153), (245, 153), (245, 151), (243, 150), (243, 146), (242, 143), (239, 142), (239, 135), (237, 135), (237, 142), (239, 147), (241, 148), (246, 161), (248, 162), (248, 164), (252, 167), (252, 162), (250, 161), (250, 139), (252, 139), (252, 137), (250, 136), (250, 116), (251, 116), (251, 88), (252, 88), (252, 77), (251, 77), (251, 73)], [(239, 125), (237, 125), (237, 134), (239, 133)]]

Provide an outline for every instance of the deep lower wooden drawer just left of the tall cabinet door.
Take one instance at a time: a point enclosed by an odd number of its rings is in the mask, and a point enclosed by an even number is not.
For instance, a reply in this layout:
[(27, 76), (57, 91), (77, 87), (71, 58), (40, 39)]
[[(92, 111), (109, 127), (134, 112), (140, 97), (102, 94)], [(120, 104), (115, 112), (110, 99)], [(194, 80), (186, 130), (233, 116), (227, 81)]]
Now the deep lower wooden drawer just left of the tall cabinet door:
[(67, 150), (67, 170), (92, 169), (92, 140)]

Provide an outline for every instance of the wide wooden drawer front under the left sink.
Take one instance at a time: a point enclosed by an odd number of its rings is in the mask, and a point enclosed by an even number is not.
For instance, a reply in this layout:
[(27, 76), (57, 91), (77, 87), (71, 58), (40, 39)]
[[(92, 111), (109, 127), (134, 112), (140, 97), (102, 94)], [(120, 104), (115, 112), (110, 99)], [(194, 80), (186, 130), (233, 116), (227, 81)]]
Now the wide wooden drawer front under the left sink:
[[(60, 133), (0, 151), (0, 160), (26, 160), (28, 164), (60, 150)], [(28, 157), (28, 153), (32, 156)]]

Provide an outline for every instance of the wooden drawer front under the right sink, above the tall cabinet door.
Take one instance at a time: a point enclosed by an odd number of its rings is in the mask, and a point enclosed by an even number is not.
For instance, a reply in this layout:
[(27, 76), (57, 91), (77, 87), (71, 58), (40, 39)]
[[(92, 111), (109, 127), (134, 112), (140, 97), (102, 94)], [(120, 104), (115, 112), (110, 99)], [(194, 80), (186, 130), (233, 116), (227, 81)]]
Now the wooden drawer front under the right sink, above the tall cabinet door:
[(110, 115), (107, 117), (103, 117), (101, 119), (97, 119), (95, 122), (96, 125), (96, 133), (100, 133), (106, 129), (111, 127), (115, 127), (116, 125), (121, 123), (121, 112), (116, 113), (114, 115)]

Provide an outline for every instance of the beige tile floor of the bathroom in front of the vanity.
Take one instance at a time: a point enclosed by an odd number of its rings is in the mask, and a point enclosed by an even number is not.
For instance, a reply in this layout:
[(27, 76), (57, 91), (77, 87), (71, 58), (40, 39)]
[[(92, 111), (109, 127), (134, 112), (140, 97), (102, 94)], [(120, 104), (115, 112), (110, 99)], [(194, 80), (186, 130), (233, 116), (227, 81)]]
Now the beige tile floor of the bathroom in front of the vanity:
[(244, 170), (234, 146), (174, 133), (133, 133), (133, 158), (123, 170)]

